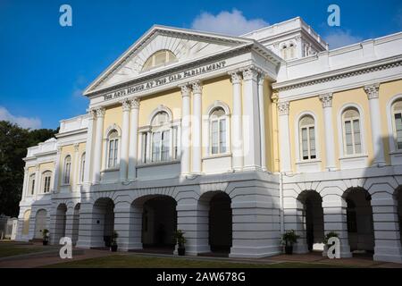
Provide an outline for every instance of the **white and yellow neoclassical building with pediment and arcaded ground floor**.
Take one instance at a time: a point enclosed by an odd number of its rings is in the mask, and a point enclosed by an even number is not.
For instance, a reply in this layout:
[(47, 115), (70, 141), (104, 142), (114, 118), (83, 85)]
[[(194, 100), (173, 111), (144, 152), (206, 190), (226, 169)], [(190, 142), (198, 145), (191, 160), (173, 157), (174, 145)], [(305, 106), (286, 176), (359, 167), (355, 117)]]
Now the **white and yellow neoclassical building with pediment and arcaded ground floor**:
[(18, 240), (402, 262), (402, 33), (329, 50), (300, 18), (241, 37), (154, 26), (29, 147)]

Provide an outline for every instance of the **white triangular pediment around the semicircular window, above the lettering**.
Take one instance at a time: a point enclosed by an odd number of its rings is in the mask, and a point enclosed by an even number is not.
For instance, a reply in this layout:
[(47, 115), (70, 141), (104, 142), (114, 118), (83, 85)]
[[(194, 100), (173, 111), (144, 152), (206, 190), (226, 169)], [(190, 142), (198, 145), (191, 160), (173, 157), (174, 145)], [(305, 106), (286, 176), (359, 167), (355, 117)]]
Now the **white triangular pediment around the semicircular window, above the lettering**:
[[(216, 55), (230, 48), (252, 43), (248, 38), (222, 36), (213, 33), (197, 32), (190, 29), (175, 29), (155, 26), (104, 71), (84, 94), (98, 89), (134, 80), (147, 74), (188, 63), (208, 55)], [(144, 63), (149, 56), (160, 50), (169, 50), (175, 55), (174, 63), (144, 71)]]

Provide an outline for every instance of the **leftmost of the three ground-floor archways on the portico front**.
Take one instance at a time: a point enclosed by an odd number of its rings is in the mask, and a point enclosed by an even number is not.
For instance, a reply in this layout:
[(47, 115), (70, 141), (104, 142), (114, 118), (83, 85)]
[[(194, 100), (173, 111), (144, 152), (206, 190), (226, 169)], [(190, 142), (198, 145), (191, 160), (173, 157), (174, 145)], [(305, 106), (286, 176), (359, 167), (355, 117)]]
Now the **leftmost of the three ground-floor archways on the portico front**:
[(92, 222), (92, 247), (109, 248), (114, 231), (114, 203), (111, 198), (96, 200)]

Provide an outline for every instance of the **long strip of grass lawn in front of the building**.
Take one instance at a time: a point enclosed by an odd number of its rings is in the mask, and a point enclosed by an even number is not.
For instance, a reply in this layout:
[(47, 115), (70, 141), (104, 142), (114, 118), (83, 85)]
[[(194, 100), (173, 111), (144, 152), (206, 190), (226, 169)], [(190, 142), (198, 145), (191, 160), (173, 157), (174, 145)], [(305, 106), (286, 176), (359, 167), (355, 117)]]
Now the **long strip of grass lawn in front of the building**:
[(169, 257), (140, 257), (115, 255), (47, 265), (51, 268), (325, 268), (343, 267), (318, 263), (284, 262), (275, 264), (244, 263)]

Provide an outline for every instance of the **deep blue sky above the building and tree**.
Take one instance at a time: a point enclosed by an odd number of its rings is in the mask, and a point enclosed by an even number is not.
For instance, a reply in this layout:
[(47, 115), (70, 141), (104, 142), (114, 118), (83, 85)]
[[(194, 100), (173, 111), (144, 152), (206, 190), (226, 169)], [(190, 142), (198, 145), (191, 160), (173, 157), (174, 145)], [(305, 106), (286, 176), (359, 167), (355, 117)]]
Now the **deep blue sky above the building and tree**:
[[(59, 24), (62, 4), (72, 27)], [(329, 4), (339, 28), (327, 25)], [(0, 120), (56, 128), (84, 114), (82, 90), (155, 23), (239, 35), (296, 16), (342, 46), (401, 31), (402, 1), (0, 0)]]

